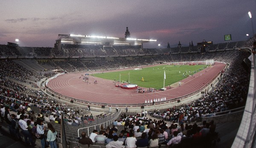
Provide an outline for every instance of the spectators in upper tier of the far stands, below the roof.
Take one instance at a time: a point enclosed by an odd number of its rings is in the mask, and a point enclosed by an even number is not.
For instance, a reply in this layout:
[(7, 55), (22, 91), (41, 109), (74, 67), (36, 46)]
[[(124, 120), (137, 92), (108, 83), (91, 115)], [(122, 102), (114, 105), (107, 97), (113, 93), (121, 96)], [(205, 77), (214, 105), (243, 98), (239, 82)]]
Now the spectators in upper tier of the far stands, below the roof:
[[(255, 37), (254, 37), (255, 38)], [(227, 42), (220, 44), (212, 44), (207, 47), (207, 51), (216, 51), (224, 49), (235, 49), (241, 46), (247, 46), (251, 43), (246, 41), (238, 42)], [(34, 47), (34, 52), (39, 56), (51, 56), (52, 53), (55, 56), (108, 56), (108, 55), (161, 55), (165, 53), (187, 53), (187, 52), (200, 52), (200, 46), (186, 46), (186, 47), (174, 47), (174, 48), (164, 48), (164, 49), (142, 49), (141, 46), (131, 46), (131, 45), (113, 45), (112, 49), (104, 49), (103, 45), (62, 45), (61, 50), (52, 50), (50, 47)], [(19, 49), (17, 47), (0, 45), (0, 55), (6, 56), (20, 56)], [(30, 53), (27, 53), (30, 55)]]

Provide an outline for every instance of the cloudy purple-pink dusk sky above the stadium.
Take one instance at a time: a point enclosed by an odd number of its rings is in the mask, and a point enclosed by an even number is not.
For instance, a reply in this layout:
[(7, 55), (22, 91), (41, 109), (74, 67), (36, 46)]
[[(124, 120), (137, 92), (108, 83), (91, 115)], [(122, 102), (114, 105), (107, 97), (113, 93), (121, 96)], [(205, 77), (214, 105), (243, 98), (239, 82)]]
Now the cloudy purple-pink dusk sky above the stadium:
[(157, 39), (156, 48), (224, 43), (256, 32), (256, 0), (1, 0), (0, 44), (53, 47), (58, 34)]

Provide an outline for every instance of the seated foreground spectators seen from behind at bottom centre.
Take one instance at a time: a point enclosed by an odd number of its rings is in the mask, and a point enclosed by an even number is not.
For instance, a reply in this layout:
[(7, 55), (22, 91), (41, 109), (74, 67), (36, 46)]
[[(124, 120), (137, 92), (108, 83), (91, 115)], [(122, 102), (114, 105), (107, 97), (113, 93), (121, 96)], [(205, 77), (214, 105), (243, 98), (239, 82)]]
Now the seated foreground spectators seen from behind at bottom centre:
[[(218, 138), (215, 132), (214, 121), (203, 122), (202, 126), (196, 123), (179, 122), (168, 125), (164, 120), (152, 120), (146, 117), (145, 112), (134, 115), (123, 113), (113, 126), (93, 130), (88, 138), (81, 133), (79, 143), (83, 145), (106, 145), (106, 148), (155, 147), (159, 145), (198, 147), (212, 145)], [(121, 129), (120, 129), (121, 128)]]

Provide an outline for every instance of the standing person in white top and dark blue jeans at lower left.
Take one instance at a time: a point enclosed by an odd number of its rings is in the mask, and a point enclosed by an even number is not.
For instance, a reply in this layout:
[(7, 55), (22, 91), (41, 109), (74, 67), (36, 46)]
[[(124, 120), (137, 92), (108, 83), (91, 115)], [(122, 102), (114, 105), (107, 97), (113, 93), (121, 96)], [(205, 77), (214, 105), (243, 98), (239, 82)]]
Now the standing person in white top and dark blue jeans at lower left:
[[(19, 125), (20, 125), (20, 128), (22, 129), (22, 133), (23, 133), (26, 144), (29, 145), (29, 142), (30, 142), (32, 147), (35, 147), (36, 144), (33, 141), (32, 136), (28, 131), (28, 125), (24, 121), (24, 115), (23, 114), (20, 115)], [(28, 139), (29, 139), (29, 142), (28, 142)]]

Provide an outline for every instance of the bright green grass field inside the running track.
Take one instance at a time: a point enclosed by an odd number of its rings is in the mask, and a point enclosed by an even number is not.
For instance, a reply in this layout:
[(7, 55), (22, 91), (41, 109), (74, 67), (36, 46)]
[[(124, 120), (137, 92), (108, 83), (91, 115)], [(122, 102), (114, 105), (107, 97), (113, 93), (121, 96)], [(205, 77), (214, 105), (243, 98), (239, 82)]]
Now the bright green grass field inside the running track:
[[(191, 72), (190, 75), (194, 74), (195, 70), (198, 73), (206, 65), (161, 65), (155, 67), (142, 68), (141, 70), (126, 70), (111, 73), (96, 73), (93, 74), (99, 78), (105, 78), (109, 80), (119, 80), (119, 74), (121, 74), (121, 82), (129, 81), (131, 84), (137, 84), (140, 87), (146, 88), (163, 88), (164, 70), (166, 73), (165, 87), (176, 83), (184, 78)], [(186, 73), (187, 71), (187, 73)], [(130, 73), (130, 80), (129, 80)], [(185, 77), (183, 77), (183, 73)], [(141, 81), (141, 79), (144, 81)]]

